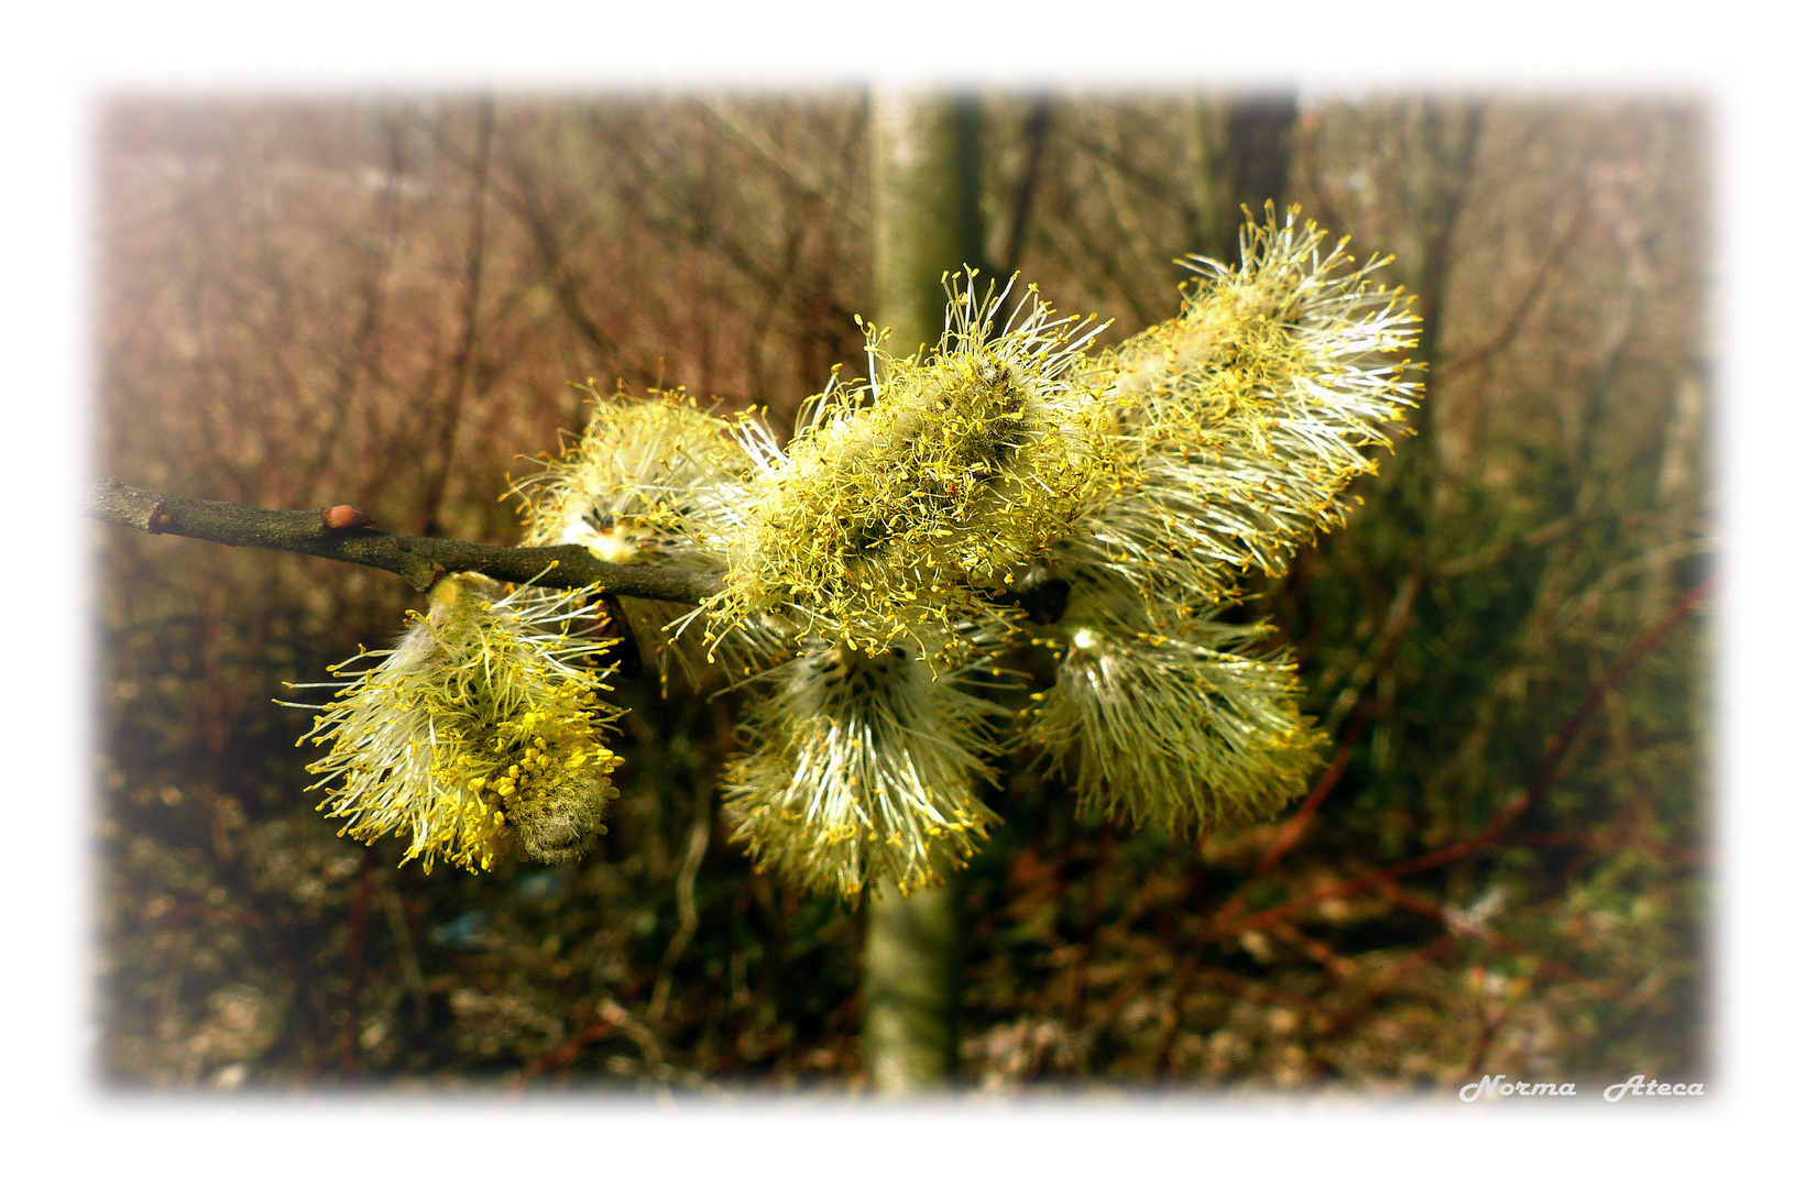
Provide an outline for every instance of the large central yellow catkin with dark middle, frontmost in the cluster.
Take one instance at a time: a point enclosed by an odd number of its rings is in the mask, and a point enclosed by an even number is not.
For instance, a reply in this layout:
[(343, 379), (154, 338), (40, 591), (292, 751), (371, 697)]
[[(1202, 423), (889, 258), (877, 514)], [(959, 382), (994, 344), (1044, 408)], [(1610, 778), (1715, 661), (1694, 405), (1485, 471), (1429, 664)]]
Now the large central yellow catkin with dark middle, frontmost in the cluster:
[(987, 594), (1108, 486), (1099, 403), (1068, 379), (1095, 330), (1034, 287), (1008, 316), (1008, 289), (979, 296), (970, 274), (949, 296), (927, 356), (887, 356), (869, 327), (867, 385), (831, 385), (788, 451), (750, 444), (716, 632), (777, 612), (873, 655), (952, 637), (954, 621), (996, 616)]

